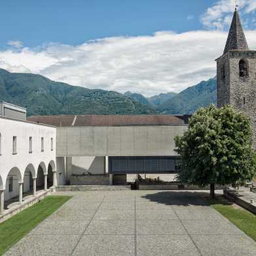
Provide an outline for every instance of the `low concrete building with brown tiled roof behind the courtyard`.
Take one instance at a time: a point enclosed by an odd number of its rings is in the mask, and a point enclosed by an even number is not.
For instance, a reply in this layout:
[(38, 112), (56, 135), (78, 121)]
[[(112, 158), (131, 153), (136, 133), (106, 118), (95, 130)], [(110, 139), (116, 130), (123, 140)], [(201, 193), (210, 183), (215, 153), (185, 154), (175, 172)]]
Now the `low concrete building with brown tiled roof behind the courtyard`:
[(68, 184), (106, 185), (125, 184), (127, 174), (177, 173), (174, 136), (184, 133), (188, 118), (32, 116), (29, 120), (57, 127), (57, 163), (65, 167)]

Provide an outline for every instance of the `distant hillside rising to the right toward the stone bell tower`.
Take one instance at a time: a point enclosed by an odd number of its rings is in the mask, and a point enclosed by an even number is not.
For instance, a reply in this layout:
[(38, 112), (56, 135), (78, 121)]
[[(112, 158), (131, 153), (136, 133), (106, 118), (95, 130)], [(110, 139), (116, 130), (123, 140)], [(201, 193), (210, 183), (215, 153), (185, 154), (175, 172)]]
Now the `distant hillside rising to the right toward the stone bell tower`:
[(161, 114), (193, 114), (200, 106), (216, 104), (216, 78), (202, 81), (178, 93), (157, 107)]

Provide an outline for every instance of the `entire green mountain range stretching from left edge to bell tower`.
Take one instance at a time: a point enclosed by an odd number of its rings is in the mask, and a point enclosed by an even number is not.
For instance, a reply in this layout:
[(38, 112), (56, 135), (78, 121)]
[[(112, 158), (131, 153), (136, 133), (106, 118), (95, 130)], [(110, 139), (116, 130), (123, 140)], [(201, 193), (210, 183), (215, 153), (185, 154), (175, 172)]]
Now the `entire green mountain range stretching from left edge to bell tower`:
[(54, 114), (193, 114), (216, 103), (216, 78), (181, 93), (144, 97), (54, 82), (39, 74), (0, 69), (0, 101), (27, 108), (27, 116)]

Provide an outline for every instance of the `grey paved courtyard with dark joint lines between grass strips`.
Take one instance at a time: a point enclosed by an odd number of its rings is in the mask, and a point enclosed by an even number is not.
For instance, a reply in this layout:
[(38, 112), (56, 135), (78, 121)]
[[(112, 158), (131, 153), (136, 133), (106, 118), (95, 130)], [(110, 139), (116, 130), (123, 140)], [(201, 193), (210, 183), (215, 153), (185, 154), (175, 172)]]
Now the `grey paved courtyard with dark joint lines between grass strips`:
[(74, 197), (5, 255), (254, 256), (256, 243), (199, 193), (91, 191)]

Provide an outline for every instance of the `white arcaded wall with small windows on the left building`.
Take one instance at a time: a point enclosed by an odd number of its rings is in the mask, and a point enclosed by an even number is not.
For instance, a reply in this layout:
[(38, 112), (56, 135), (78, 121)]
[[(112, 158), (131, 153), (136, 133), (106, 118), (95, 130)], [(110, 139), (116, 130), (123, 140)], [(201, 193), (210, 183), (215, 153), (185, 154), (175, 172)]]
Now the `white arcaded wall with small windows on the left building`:
[[(40, 163), (47, 167), (50, 161), (56, 165), (56, 128), (38, 125), (27, 121), (11, 120), (0, 117), (1, 155), (0, 155), (0, 189), (5, 189), (8, 173), (14, 170), (15, 191), (5, 191), (5, 200), (18, 195), (16, 185), (24, 181), (26, 167), (30, 164), (35, 169), (33, 176), (37, 176)], [(17, 136), (17, 154), (12, 154), (12, 137)], [(29, 136), (33, 138), (33, 152), (29, 153)], [(44, 152), (41, 152), (41, 137), (44, 137)], [(51, 138), (54, 139), (54, 150), (51, 150)], [(15, 175), (16, 174), (16, 175)], [(18, 185), (17, 185), (18, 188)], [(27, 189), (25, 185), (25, 189)]]

